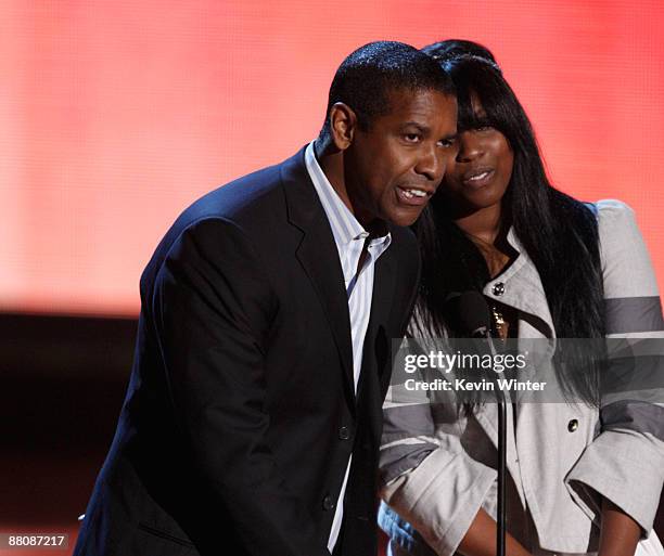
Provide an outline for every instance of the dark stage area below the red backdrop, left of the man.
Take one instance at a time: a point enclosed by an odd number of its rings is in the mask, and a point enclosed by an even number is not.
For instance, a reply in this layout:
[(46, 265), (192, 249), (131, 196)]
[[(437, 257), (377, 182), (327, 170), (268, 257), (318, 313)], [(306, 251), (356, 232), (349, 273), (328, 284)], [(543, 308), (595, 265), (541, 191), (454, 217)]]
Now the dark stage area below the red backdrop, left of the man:
[[(67, 532), (71, 554), (115, 429), (137, 321), (0, 315), (0, 532)], [(655, 529), (664, 536), (664, 512)]]

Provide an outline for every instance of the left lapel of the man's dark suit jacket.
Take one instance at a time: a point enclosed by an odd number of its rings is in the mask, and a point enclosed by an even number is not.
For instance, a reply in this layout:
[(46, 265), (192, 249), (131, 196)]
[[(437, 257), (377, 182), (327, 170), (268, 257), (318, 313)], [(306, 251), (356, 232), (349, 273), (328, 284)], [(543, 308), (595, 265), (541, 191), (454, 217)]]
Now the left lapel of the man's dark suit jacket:
[(304, 148), (281, 167), (289, 221), (303, 233), (295, 256), (305, 270), (328, 318), (346, 377), (355, 397), (350, 315), (339, 251), (304, 161)]

